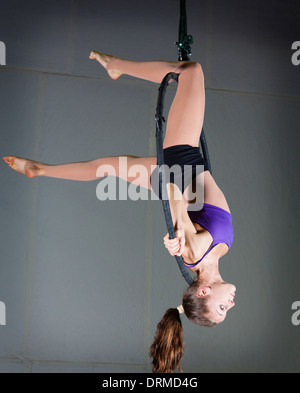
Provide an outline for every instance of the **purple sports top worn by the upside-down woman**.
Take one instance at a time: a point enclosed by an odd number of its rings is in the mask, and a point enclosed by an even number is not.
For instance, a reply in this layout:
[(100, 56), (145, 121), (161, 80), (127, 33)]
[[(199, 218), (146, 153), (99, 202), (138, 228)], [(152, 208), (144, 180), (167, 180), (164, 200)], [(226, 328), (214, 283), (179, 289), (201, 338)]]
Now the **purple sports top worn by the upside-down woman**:
[(219, 243), (225, 243), (230, 248), (233, 242), (232, 216), (229, 212), (220, 207), (203, 204), (203, 208), (198, 211), (188, 211), (192, 222), (196, 222), (205, 228), (212, 236), (213, 242), (203, 257), (193, 264), (185, 264), (186, 267), (195, 267)]

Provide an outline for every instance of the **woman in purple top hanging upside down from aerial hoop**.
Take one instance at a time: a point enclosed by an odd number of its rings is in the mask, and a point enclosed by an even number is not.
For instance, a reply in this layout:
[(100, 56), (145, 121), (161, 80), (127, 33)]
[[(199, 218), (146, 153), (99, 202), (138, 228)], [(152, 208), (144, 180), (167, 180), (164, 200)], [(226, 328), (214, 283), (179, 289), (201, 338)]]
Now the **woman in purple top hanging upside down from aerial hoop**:
[[(170, 208), (176, 238), (164, 237), (165, 247), (171, 255), (182, 255), (186, 266), (196, 274), (194, 283), (184, 292), (182, 305), (170, 308), (157, 326), (150, 348), (153, 372), (172, 372), (180, 368), (183, 357), (183, 333), (180, 314), (198, 325), (212, 327), (224, 321), (228, 310), (234, 306), (236, 288), (224, 282), (219, 272), (219, 259), (230, 249), (233, 241), (232, 217), (225, 196), (207, 170), (200, 153), (205, 90), (200, 64), (191, 61), (136, 62), (92, 51), (90, 59), (98, 61), (112, 79), (127, 74), (136, 78), (161, 83), (170, 72), (178, 74), (178, 88), (169, 111), (164, 139), (164, 161), (184, 168), (192, 166), (192, 179), (201, 180), (204, 186), (204, 203), (201, 210), (189, 210), (187, 190), (176, 179), (168, 183)], [(124, 157), (124, 156), (123, 156)], [(89, 181), (99, 178), (98, 168), (103, 165), (113, 169), (113, 175), (134, 182), (130, 168), (141, 165), (139, 184), (155, 190), (153, 177), (156, 157), (126, 156), (127, 167), (119, 168), (119, 158), (103, 157), (93, 161), (50, 165), (24, 158), (7, 156), (3, 160), (15, 171), (29, 178), (47, 176), (61, 179)], [(195, 167), (204, 165), (196, 176)], [(108, 175), (110, 173), (107, 173)], [(102, 175), (103, 177), (103, 175)], [(174, 177), (175, 178), (175, 177)], [(181, 196), (178, 197), (178, 194)]]

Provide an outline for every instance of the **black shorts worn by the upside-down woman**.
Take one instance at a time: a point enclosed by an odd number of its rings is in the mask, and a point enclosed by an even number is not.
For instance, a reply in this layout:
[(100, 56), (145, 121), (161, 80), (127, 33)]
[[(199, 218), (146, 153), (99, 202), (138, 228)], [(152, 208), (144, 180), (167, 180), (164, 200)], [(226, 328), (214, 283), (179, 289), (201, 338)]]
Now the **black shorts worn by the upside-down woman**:
[[(182, 193), (200, 173), (209, 170), (199, 147), (174, 145), (164, 149), (166, 183), (176, 184)], [(169, 169), (169, 171), (168, 171)], [(159, 187), (159, 167), (150, 176), (153, 191), (162, 199)]]

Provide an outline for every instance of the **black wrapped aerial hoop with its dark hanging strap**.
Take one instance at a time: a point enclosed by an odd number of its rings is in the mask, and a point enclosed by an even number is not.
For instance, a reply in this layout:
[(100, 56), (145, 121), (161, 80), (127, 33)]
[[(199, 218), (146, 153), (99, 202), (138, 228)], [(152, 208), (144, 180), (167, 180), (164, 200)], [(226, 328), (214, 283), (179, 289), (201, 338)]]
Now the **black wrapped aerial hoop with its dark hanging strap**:
[[(186, 16), (186, 0), (180, 0), (180, 23), (179, 23), (179, 41), (175, 44), (178, 47), (178, 60), (179, 61), (189, 61), (189, 55), (191, 55), (190, 44), (193, 43), (193, 37), (187, 35), (187, 16)], [(167, 224), (167, 229), (170, 239), (175, 239), (175, 229), (172, 221), (172, 215), (170, 210), (170, 204), (168, 199), (168, 191), (166, 185), (166, 175), (164, 170), (164, 152), (163, 152), (163, 123), (165, 122), (163, 116), (164, 98), (166, 94), (167, 87), (171, 80), (178, 82), (178, 74), (170, 72), (162, 80), (160, 87), (158, 89), (158, 99), (155, 114), (156, 121), (156, 155), (157, 155), (157, 165), (159, 168), (159, 189), (161, 190), (162, 205), (165, 215), (165, 220)], [(200, 144), (202, 149), (203, 157), (206, 161), (209, 171), (211, 172), (211, 165), (209, 159), (209, 153), (207, 148), (207, 143), (204, 135), (204, 130), (202, 129)], [(194, 280), (191, 277), (188, 269), (184, 264), (182, 256), (175, 256), (178, 267), (181, 271), (182, 276), (189, 285), (192, 285)]]

